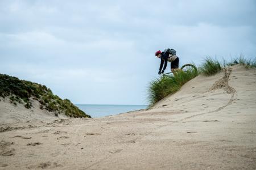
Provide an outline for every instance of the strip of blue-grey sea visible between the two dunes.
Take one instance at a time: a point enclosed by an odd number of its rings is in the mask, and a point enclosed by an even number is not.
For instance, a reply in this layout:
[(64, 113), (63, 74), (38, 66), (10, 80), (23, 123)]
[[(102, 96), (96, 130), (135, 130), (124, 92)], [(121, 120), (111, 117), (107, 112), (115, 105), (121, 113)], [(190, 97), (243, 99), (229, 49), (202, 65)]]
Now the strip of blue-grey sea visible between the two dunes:
[(115, 105), (115, 104), (76, 104), (79, 109), (91, 117), (104, 117), (146, 109), (147, 105)]

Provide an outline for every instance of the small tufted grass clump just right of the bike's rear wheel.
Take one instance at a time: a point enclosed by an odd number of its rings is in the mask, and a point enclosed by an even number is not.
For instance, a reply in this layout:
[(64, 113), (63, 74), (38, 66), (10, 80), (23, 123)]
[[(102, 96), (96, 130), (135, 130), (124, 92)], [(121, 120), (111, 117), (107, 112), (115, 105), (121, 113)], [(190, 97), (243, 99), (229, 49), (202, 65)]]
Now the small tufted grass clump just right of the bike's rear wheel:
[(214, 75), (222, 70), (221, 62), (211, 57), (206, 57), (202, 65), (199, 67), (200, 73), (204, 75)]

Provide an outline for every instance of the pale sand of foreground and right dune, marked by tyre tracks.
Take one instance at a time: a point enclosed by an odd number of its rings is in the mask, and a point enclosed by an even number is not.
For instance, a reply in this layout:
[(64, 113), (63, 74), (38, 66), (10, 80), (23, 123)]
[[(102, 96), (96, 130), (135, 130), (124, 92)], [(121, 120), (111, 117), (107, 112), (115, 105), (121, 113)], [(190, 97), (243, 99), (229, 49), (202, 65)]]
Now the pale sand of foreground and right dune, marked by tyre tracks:
[(2, 124), (0, 169), (256, 169), (255, 111), (256, 70), (235, 66), (148, 111)]

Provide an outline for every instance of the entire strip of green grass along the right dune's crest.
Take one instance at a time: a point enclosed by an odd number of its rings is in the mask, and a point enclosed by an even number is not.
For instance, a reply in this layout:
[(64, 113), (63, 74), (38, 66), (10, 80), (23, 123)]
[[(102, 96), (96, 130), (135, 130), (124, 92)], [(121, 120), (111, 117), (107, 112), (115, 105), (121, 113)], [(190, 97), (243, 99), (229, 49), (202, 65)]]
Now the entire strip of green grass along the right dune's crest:
[[(198, 74), (214, 75), (221, 71), (226, 66), (243, 65), (246, 68), (256, 67), (256, 58), (246, 59), (244, 57), (235, 58), (230, 62), (223, 59), (222, 62), (211, 57), (206, 57), (204, 62), (199, 66), (199, 73), (191, 69), (186, 72), (178, 71), (175, 75), (164, 75), (160, 78), (156, 78), (150, 82), (148, 87), (148, 101), (149, 107), (152, 107), (156, 102), (164, 97), (174, 94), (179, 91), (181, 86), (187, 83), (189, 80), (195, 78)], [(195, 66), (195, 65), (194, 65)]]

